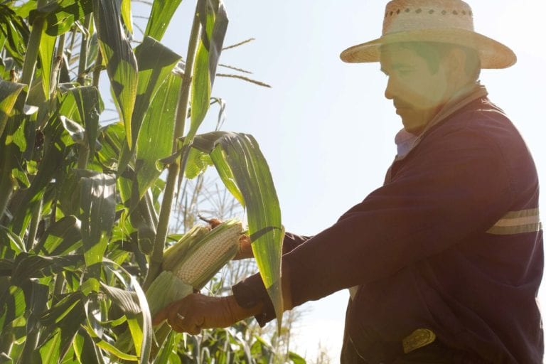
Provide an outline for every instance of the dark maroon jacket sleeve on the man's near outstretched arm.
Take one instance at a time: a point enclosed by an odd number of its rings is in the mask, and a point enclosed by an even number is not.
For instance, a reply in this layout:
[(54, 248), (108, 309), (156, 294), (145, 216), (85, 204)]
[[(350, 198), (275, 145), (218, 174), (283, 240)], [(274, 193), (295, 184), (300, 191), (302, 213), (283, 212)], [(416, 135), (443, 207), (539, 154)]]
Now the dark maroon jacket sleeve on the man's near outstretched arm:
[[(429, 139), (390, 182), (283, 256), (294, 306), (388, 277), (488, 230), (510, 208), (507, 164), (485, 133), (462, 127)], [(260, 282), (250, 277), (240, 288)]]

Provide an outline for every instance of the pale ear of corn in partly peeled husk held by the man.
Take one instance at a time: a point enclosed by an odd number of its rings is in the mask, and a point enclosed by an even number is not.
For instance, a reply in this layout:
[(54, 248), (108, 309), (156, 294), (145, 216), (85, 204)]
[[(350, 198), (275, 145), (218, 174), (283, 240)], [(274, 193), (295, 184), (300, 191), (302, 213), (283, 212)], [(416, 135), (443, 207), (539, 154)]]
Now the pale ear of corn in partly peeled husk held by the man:
[(164, 252), (164, 269), (146, 291), (152, 316), (171, 302), (201, 289), (239, 249), (242, 223), (228, 220), (216, 228), (194, 227)]

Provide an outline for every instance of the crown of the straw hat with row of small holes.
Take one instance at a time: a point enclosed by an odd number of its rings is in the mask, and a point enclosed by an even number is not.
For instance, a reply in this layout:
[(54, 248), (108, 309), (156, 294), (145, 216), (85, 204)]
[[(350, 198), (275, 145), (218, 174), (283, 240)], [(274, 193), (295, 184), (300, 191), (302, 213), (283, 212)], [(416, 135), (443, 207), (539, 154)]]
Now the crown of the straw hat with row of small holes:
[(473, 14), (469, 4), (461, 0), (393, 0), (387, 4), (383, 36), (439, 28), (473, 31)]

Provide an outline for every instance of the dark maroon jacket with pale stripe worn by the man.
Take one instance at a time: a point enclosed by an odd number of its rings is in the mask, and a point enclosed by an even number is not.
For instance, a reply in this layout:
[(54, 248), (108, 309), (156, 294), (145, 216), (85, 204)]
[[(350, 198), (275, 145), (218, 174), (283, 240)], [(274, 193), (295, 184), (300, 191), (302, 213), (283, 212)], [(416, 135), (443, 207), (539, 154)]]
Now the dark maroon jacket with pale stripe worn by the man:
[[(388, 363), (417, 328), (492, 363), (542, 363), (538, 189), (513, 124), (474, 100), (424, 132), (336, 224), (287, 235), (292, 301), (359, 286), (341, 363)], [(274, 318), (258, 275), (233, 292), (242, 306), (266, 304), (260, 323)]]

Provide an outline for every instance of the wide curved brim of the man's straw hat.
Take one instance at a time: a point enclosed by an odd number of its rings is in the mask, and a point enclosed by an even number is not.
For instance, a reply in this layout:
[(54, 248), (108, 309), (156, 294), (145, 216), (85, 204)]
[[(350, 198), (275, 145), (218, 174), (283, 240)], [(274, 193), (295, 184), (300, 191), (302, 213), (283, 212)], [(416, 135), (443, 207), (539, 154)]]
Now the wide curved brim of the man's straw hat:
[(437, 42), (464, 45), (478, 51), (481, 68), (508, 68), (517, 58), (506, 45), (473, 31), (459, 28), (419, 29), (390, 33), (343, 50), (340, 57), (347, 63), (379, 62), (380, 47), (400, 42)]

